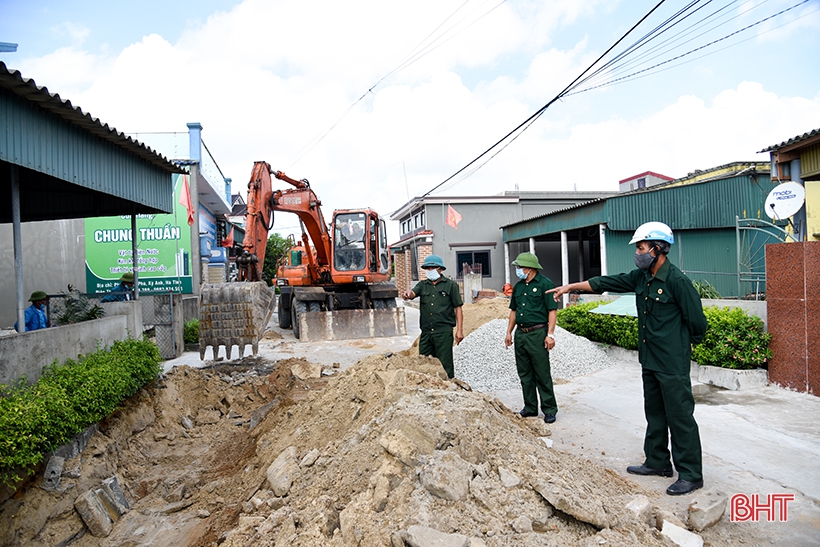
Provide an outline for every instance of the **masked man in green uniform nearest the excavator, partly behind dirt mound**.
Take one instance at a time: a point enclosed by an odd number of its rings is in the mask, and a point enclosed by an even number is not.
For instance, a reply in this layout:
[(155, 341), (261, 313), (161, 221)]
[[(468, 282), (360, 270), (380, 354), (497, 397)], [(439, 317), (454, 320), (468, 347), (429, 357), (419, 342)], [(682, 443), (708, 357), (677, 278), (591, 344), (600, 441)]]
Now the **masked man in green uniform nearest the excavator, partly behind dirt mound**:
[(446, 268), (440, 256), (428, 256), (421, 268), (427, 279), (419, 281), (413, 290), (405, 291), (401, 296), (405, 300), (421, 297), (419, 354), (437, 357), (447, 376), (453, 378), (453, 327), (456, 328), (455, 342), (458, 345), (464, 340), (461, 313), (464, 302), (458, 284), (441, 275)]

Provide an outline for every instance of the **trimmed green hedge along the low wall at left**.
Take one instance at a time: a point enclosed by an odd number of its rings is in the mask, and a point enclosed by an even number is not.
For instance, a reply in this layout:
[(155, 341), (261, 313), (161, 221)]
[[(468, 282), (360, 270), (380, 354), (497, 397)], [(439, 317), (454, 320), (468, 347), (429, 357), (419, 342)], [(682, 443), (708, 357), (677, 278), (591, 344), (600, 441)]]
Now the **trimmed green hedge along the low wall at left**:
[(0, 480), (12, 486), (19, 469), (33, 473), (45, 453), (110, 416), (156, 379), (160, 361), (154, 343), (131, 338), (63, 365), (55, 361), (30, 386), (0, 385)]

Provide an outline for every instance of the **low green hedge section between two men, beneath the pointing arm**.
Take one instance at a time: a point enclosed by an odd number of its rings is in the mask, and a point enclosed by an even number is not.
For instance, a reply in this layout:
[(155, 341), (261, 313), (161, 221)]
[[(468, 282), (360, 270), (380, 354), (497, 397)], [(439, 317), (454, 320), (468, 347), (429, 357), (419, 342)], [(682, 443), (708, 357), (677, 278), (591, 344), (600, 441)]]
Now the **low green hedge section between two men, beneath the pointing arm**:
[(558, 312), (558, 325), (569, 332), (626, 349), (638, 349), (638, 319), (622, 315), (590, 313), (605, 302), (586, 302)]

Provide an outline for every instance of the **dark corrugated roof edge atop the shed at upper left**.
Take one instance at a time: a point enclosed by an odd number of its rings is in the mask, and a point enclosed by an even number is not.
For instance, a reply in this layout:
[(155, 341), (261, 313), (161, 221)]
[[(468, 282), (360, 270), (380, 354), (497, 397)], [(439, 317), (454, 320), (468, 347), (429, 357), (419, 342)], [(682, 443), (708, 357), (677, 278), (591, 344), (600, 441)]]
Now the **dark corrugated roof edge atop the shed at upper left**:
[(139, 156), (160, 169), (169, 173), (187, 172), (148, 146), (126, 136), (108, 124), (103, 124), (98, 118), (92, 117), (91, 114), (83, 112), (80, 107), (72, 105), (71, 101), (61, 98), (59, 94), (51, 93), (48, 88), (38, 86), (30, 78), (23, 78), (18, 70), (6, 67), (6, 64), (2, 61), (0, 61), (0, 88), (8, 89), (15, 95), (23, 97), (26, 101), (35, 103), (41, 108), (71, 122), (71, 124), (82, 127), (86, 131), (124, 148), (131, 154)]

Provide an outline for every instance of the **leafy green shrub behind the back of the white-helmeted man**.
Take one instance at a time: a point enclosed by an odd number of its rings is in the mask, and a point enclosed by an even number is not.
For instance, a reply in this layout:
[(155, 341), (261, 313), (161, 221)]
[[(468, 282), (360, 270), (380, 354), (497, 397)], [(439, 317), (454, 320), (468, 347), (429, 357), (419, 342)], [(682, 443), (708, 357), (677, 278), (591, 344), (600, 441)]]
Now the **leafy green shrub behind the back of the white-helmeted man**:
[(703, 342), (695, 346), (692, 360), (701, 365), (751, 369), (772, 358), (771, 335), (763, 331), (763, 320), (740, 308), (704, 308), (709, 328)]

